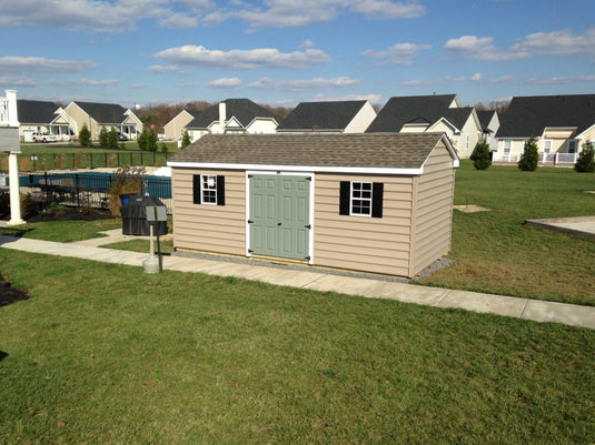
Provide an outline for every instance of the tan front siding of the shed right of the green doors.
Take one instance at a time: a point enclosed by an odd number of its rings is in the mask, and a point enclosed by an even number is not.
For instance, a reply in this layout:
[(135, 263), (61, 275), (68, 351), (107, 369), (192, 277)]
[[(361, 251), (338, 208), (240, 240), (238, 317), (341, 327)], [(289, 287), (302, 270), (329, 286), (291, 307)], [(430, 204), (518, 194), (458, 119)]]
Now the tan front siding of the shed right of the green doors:
[[(383, 218), (339, 215), (341, 181), (384, 183)], [(407, 275), (411, 178), (316, 174), (316, 265)]]

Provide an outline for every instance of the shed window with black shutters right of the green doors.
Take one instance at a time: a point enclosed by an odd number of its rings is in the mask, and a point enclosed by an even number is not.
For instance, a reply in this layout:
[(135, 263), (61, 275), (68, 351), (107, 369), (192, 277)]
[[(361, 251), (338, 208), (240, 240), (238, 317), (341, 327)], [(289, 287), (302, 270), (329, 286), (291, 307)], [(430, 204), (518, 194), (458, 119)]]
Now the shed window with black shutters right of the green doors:
[(384, 183), (341, 181), (339, 214), (383, 218)]

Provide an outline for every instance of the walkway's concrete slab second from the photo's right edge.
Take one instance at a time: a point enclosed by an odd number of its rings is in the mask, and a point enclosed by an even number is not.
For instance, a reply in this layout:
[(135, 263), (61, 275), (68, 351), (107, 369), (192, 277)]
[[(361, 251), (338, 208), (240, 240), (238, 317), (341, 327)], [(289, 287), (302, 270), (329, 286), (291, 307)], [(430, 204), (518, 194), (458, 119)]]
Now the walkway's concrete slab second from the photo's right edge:
[(519, 317), (525, 307), (525, 299), (482, 294), (466, 291), (448, 291), (436, 307), (456, 307), (466, 311)]

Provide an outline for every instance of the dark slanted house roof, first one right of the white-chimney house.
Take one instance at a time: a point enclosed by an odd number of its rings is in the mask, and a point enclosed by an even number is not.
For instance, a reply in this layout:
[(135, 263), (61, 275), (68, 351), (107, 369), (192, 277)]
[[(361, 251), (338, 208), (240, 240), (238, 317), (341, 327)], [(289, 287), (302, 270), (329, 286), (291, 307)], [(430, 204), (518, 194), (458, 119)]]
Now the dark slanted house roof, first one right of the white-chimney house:
[(300, 102), (277, 131), (345, 130), (365, 104), (365, 100)]

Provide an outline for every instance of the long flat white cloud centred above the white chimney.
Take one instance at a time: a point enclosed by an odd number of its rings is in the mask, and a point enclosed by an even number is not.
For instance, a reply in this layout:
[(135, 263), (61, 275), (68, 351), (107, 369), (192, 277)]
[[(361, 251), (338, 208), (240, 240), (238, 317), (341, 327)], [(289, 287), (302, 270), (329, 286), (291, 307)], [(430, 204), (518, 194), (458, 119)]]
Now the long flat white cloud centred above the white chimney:
[(220, 51), (191, 44), (169, 48), (153, 54), (153, 57), (175, 64), (231, 70), (254, 70), (258, 68), (303, 69), (318, 63), (326, 63), (330, 60), (324, 51), (314, 49), (287, 53), (274, 48)]

